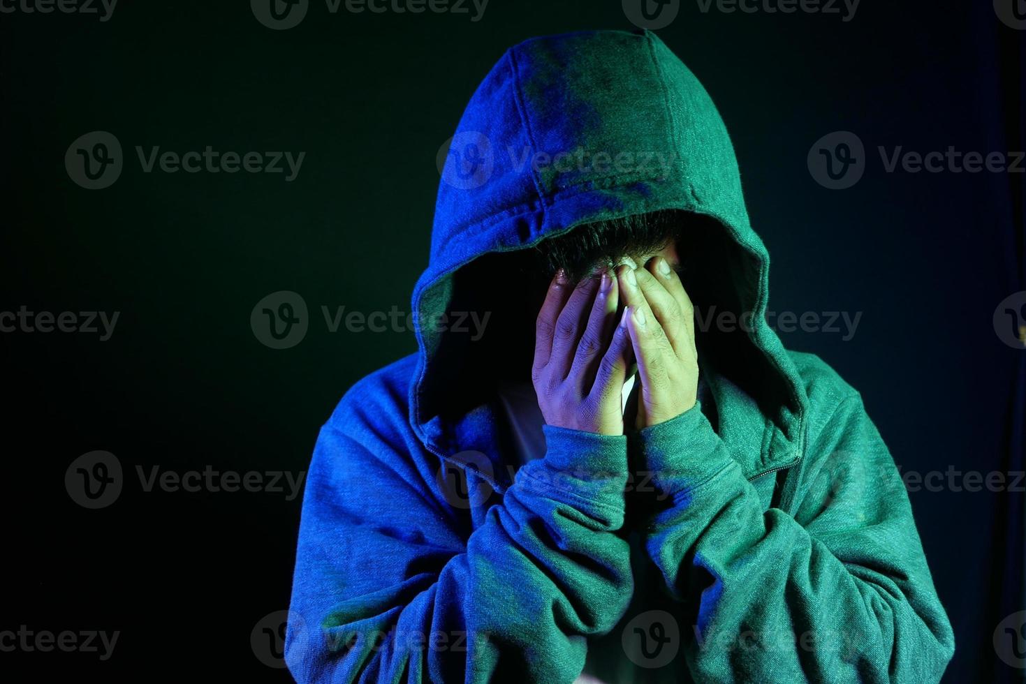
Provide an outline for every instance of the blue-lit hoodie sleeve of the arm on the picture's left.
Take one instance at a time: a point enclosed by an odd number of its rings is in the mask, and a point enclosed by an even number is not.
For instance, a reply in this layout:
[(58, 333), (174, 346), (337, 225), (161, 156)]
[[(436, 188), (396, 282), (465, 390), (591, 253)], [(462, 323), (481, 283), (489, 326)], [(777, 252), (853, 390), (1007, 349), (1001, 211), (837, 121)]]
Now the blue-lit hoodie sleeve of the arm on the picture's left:
[[(397, 431), (398, 432), (398, 431)], [(571, 682), (633, 593), (626, 438), (545, 428), (471, 529), (407, 434), (326, 426), (307, 478), (286, 637), (300, 682)], [(434, 467), (431, 466), (433, 462)], [(501, 668), (501, 670), (500, 670)]]

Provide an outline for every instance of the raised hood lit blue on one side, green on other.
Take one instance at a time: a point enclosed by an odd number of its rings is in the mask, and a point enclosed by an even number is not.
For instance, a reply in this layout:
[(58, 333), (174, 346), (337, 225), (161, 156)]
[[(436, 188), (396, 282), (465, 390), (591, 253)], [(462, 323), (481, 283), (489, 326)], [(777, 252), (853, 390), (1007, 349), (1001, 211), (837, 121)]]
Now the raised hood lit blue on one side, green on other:
[[(701, 273), (685, 281), (697, 309), (750, 319), (699, 333), (714, 396), (738, 404), (720, 414), (747, 411), (787, 454), (800, 452), (805, 393), (765, 321), (770, 257), (749, 224), (734, 148), (703, 86), (655, 34), (581, 32), (510, 48), (444, 154), (431, 258), (412, 296), (420, 359), (409, 419), (431, 450), (448, 458), (476, 439), (488, 453), (488, 378), (513, 365), (502, 343), (532, 351), (534, 317), (520, 326), (530, 328), (524, 338), (501, 321), (477, 340), (457, 330), (462, 312), (517, 300), (523, 281), (502, 265), (582, 224), (675, 210), (706, 227), (694, 247)], [(526, 364), (529, 377), (529, 356)], [(765, 453), (739, 457), (749, 475), (780, 467)]]

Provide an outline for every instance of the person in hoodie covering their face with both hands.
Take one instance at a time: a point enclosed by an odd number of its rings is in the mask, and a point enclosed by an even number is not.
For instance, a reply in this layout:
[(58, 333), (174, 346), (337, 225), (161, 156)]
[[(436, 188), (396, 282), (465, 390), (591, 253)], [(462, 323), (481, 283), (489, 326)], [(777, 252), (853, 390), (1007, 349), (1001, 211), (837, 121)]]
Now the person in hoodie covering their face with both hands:
[(953, 637), (898, 471), (766, 324), (690, 72), (647, 32), (530, 40), (452, 148), (420, 351), (314, 452), (295, 678), (937, 681)]

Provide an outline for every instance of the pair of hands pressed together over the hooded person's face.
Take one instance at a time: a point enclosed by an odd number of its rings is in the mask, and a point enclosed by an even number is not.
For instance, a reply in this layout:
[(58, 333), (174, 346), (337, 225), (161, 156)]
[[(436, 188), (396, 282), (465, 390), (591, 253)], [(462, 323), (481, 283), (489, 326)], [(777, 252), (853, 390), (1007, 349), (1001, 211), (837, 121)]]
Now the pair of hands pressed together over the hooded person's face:
[(562, 273), (552, 279), (538, 314), (531, 369), (547, 424), (623, 434), (621, 395), (635, 368), (636, 429), (695, 405), (695, 308), (677, 274), (675, 244), (643, 264), (625, 258), (577, 285)]

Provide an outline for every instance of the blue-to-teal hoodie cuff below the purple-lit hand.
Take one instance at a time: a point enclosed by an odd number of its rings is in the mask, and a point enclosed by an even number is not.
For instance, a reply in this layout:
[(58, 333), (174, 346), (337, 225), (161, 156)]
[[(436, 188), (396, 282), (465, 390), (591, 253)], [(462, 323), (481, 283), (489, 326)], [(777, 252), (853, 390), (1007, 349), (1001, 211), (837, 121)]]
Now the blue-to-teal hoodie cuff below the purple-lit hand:
[(624, 508), (627, 484), (627, 438), (543, 426), (544, 458), (526, 464), (520, 473), (532, 489)]

